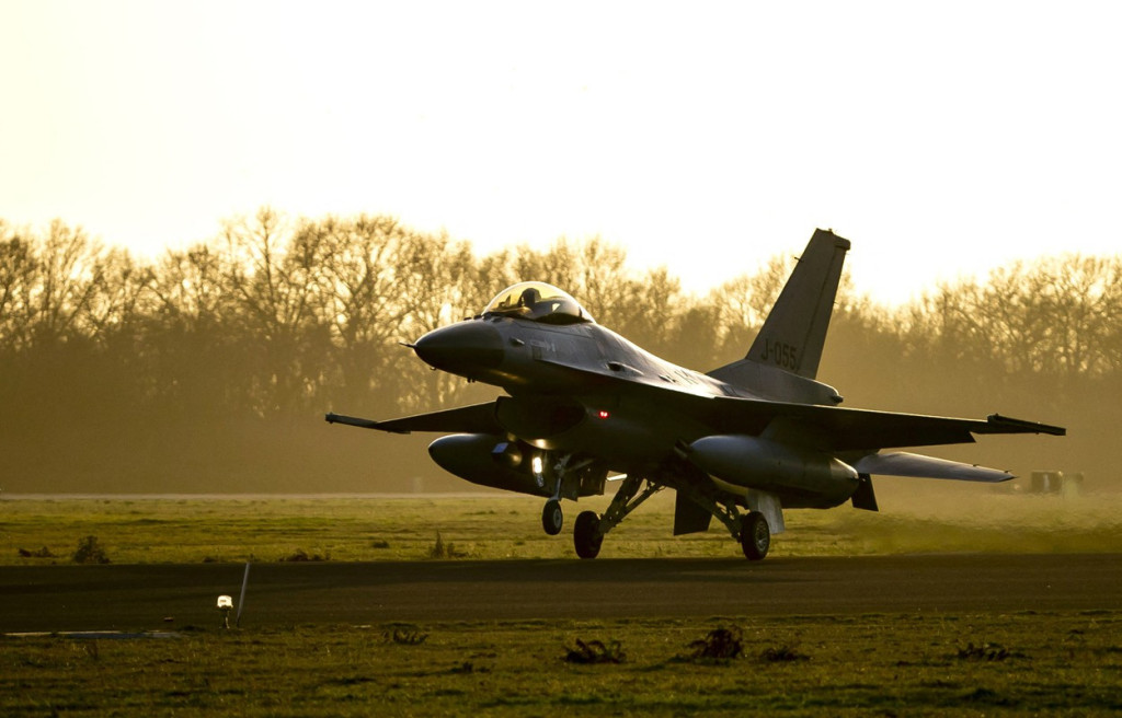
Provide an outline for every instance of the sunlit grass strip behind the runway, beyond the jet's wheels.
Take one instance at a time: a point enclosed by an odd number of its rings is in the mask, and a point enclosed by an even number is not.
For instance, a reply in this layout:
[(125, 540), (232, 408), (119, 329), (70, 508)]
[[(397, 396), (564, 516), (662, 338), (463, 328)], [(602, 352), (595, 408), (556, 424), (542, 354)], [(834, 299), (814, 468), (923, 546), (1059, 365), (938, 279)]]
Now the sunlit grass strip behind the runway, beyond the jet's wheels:
[[(774, 556), (910, 552), (1119, 552), (1122, 497), (1022, 496), (946, 483), (879, 486), (881, 513), (840, 506), (788, 511)], [(980, 489), (981, 488), (981, 489)], [(427, 558), (440, 532), (469, 559), (571, 558), (579, 511), (607, 497), (565, 502), (565, 531), (546, 537), (542, 502), (465, 497), (36, 498), (0, 501), (0, 565), (68, 561), (98, 537), (116, 563), (277, 561), (298, 551), (332, 561)], [(738, 547), (714, 522), (672, 537), (673, 494), (662, 492), (604, 542), (605, 557), (730, 557)], [(20, 549), (54, 558), (21, 557)]]

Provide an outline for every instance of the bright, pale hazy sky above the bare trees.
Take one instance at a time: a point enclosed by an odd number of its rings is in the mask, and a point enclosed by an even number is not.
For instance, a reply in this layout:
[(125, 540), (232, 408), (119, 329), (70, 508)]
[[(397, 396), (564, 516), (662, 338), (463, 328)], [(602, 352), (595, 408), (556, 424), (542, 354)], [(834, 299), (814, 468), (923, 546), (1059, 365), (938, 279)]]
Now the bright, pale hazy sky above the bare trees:
[(1122, 251), (1122, 8), (0, 0), (0, 218), (153, 255), (269, 204), (690, 289), (854, 242), (907, 299)]

